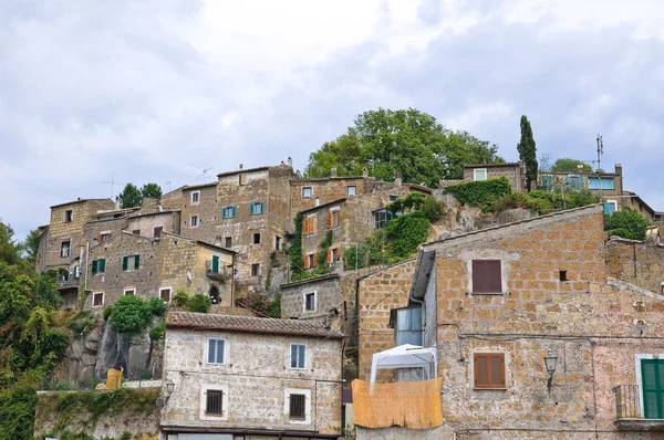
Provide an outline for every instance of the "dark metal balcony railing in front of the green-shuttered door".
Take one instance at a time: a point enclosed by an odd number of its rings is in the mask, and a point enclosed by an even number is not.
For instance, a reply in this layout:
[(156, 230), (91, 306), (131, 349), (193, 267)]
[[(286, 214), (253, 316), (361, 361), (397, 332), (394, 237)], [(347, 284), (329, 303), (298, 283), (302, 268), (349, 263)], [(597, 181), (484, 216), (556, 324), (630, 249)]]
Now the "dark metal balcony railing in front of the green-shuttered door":
[(658, 391), (643, 391), (641, 385), (613, 387), (615, 419), (664, 419), (664, 399)]

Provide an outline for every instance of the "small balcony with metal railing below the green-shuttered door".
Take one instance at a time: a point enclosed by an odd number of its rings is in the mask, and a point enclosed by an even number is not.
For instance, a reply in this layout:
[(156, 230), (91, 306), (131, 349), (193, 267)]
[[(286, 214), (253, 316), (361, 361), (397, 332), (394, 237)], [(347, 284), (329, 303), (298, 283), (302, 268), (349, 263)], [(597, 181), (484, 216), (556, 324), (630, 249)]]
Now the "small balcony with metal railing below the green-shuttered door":
[(641, 385), (619, 385), (615, 396), (615, 425), (625, 431), (664, 431), (664, 394), (643, 392)]

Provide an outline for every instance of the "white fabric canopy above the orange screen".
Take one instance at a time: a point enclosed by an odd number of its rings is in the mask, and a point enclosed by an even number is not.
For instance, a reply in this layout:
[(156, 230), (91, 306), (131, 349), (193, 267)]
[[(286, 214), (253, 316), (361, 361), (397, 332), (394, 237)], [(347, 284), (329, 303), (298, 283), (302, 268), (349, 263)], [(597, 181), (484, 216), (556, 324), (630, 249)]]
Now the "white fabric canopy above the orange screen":
[(371, 383), (376, 381), (378, 368), (417, 368), (421, 367), (426, 379), (436, 377), (438, 362), (436, 348), (424, 348), (417, 345), (404, 344), (376, 353), (371, 362)]

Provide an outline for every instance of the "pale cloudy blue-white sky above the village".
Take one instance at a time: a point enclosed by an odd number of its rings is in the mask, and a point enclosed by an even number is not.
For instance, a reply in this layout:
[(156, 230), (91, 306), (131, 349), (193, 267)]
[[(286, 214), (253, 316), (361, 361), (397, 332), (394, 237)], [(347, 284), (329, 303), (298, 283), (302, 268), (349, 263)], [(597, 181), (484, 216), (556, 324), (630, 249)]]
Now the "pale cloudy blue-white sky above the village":
[(3, 1), (0, 219), (21, 239), (126, 182), (303, 169), (378, 107), (507, 160), (521, 115), (538, 156), (594, 160), (601, 134), (602, 168), (664, 210), (662, 96), (658, 0)]

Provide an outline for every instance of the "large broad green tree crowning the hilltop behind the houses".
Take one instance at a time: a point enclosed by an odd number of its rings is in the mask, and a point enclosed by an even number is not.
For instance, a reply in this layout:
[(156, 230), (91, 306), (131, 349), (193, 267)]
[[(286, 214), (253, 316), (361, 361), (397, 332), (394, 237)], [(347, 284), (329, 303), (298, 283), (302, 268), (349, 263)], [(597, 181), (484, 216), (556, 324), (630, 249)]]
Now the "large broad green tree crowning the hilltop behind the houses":
[(440, 179), (463, 178), (464, 166), (504, 161), (498, 147), (467, 132), (452, 132), (436, 118), (415, 108), (364, 112), (347, 133), (309, 156), (305, 177), (371, 176), (437, 187)]

